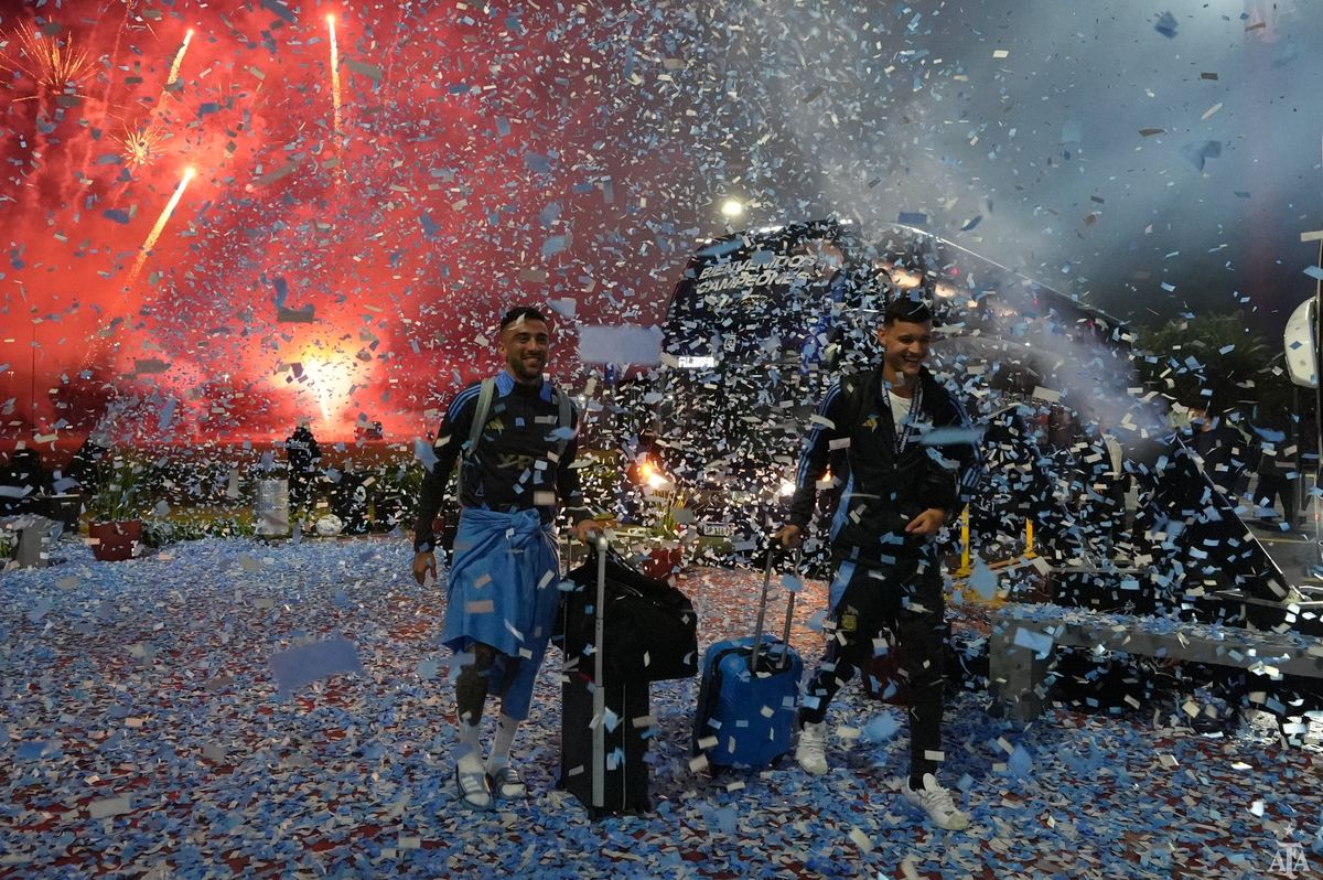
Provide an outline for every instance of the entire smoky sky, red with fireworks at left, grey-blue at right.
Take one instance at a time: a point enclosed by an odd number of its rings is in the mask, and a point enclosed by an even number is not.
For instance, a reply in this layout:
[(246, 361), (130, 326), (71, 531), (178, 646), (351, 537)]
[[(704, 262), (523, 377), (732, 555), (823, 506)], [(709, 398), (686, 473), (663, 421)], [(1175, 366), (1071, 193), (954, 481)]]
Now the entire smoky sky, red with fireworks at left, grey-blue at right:
[(1041, 5), (0, 5), (0, 443), (112, 401), (122, 434), (422, 434), (511, 304), (658, 323), (726, 198), (1275, 336), (1314, 294), (1323, 20)]

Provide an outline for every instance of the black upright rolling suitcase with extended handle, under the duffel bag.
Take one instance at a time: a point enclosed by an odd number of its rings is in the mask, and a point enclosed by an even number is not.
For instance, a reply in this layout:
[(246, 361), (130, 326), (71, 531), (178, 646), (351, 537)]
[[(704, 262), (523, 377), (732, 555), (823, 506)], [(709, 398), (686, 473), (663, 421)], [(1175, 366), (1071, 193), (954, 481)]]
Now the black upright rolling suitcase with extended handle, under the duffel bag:
[[(597, 601), (593, 644), (605, 644), (606, 541), (598, 541)], [(650, 771), (646, 762), (652, 719), (646, 678), (609, 678), (603, 651), (591, 652), (591, 666), (566, 639), (565, 682), (561, 687), (560, 785), (598, 819), (622, 813), (650, 813)], [(597, 683), (602, 683), (598, 685)]]

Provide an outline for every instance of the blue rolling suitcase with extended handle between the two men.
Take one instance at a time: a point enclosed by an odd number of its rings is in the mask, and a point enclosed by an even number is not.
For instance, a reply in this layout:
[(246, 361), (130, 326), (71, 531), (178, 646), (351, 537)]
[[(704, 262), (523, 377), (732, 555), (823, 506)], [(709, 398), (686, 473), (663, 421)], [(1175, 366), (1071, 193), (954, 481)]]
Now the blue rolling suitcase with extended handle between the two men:
[[(771, 556), (769, 548), (754, 634), (717, 642), (703, 658), (693, 754), (706, 754), (713, 770), (765, 768), (790, 752), (794, 737), (804, 667), (790, 647), (794, 593), (786, 607), (782, 638), (763, 638)], [(798, 561), (796, 554), (796, 568)]]

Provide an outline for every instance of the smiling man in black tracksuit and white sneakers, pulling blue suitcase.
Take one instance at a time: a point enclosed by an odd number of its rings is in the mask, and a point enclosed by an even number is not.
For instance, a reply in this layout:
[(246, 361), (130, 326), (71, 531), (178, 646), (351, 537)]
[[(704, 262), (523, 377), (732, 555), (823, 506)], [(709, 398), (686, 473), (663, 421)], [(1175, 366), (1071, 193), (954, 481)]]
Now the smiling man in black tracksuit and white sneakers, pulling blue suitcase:
[(799, 545), (830, 466), (844, 491), (831, 524), (836, 573), (828, 643), (804, 691), (795, 760), (808, 773), (828, 771), (827, 708), (856, 667), (867, 670), (882, 631), (892, 630), (910, 691), (910, 774), (902, 795), (935, 824), (960, 830), (968, 816), (937, 781), (946, 627), (934, 537), (959, 515), (978, 476), (976, 433), (955, 396), (923, 367), (933, 340), (923, 299), (898, 294), (877, 337), (881, 367), (840, 378), (819, 405), (789, 524), (777, 533), (783, 545)]

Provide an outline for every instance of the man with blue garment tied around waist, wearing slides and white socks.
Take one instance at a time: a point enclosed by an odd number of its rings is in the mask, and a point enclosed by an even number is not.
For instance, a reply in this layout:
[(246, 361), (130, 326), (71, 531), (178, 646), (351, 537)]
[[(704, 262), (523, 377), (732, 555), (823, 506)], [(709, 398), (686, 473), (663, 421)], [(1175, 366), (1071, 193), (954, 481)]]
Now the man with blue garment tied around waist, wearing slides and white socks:
[[(460, 667), (455, 783), (463, 801), (479, 809), (527, 794), (509, 756), (528, 717), (558, 603), (557, 513), (564, 509), (579, 540), (594, 528), (570, 467), (578, 413), (542, 374), (549, 341), (540, 311), (521, 306), (505, 312), (499, 340), (505, 367), (447, 406), (418, 506), (413, 572), (422, 584), (437, 574), (433, 520), (458, 459), (463, 509), (442, 642)], [(484, 764), (479, 732), (488, 695), (501, 697), (501, 715)]]

